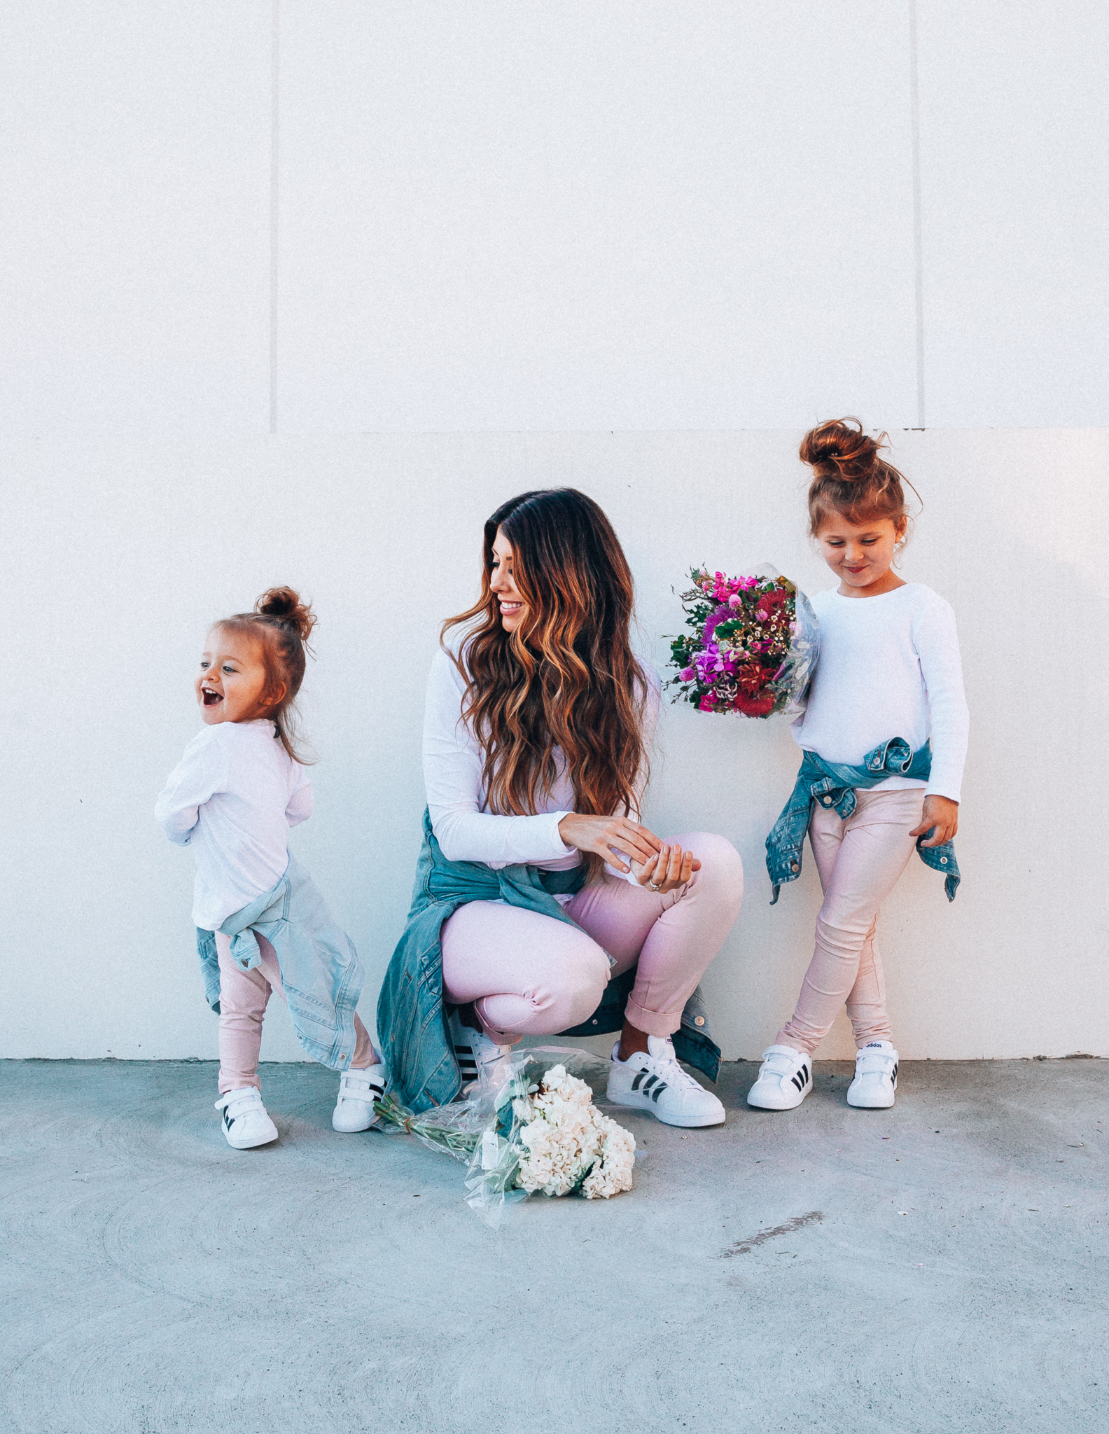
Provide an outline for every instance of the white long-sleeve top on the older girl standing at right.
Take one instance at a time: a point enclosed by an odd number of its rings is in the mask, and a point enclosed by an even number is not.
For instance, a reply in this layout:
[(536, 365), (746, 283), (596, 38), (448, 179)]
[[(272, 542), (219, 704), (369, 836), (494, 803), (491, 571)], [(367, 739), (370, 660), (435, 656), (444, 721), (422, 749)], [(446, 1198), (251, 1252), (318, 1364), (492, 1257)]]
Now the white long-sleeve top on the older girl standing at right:
[(914, 751), (931, 739), (927, 783), (889, 777), (881, 787), (924, 787), (958, 802), (970, 714), (951, 605), (922, 582), (907, 582), (874, 598), (844, 598), (832, 588), (812, 607), (821, 660), (793, 723), (798, 746), (858, 766), (889, 737), (904, 737)]

